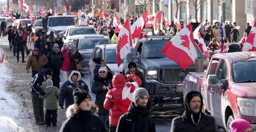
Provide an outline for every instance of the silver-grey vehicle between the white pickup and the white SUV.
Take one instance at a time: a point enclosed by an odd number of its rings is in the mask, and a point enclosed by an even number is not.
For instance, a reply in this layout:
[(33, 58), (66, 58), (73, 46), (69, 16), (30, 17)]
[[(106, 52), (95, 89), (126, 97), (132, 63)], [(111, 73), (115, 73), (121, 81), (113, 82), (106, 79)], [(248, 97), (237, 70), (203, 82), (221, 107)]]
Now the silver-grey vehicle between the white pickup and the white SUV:
[(103, 35), (84, 35), (84, 37), (78, 38), (76, 41), (76, 48), (79, 49), (83, 57), (83, 61), (80, 62), (84, 71), (89, 70), (89, 61), (92, 55), (92, 50), (97, 45), (111, 44), (109, 38)]

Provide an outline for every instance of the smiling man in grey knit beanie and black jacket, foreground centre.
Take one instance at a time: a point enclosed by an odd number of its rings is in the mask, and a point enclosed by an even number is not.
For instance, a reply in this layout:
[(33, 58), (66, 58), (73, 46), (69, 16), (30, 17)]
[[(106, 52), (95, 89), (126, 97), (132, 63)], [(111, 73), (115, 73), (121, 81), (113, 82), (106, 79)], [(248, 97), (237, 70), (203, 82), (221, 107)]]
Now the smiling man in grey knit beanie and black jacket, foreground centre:
[(134, 102), (129, 111), (120, 117), (116, 132), (156, 132), (155, 122), (149, 115), (150, 107), (147, 106), (148, 91), (137, 88), (132, 96)]

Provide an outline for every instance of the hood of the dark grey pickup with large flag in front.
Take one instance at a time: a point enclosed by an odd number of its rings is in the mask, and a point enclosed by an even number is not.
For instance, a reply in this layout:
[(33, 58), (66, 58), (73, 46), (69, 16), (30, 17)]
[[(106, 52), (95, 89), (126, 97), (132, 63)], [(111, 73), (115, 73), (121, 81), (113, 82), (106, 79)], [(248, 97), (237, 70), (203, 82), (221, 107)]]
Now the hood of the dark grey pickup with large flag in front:
[[(148, 66), (147, 70), (157, 70), (160, 67), (179, 67), (179, 65), (169, 58), (144, 59), (144, 63)], [(193, 62), (190, 67), (196, 67)]]

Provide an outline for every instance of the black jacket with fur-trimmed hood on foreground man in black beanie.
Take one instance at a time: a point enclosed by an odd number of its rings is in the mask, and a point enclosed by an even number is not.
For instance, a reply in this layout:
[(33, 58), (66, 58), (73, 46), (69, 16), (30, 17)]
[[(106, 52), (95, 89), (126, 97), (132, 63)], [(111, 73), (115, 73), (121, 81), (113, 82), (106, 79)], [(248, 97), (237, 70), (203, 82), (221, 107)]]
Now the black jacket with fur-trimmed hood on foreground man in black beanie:
[(67, 120), (63, 122), (60, 132), (106, 132), (103, 121), (96, 115), (98, 107), (92, 104), (90, 112), (80, 110), (78, 115), (74, 114), (74, 104), (66, 111)]

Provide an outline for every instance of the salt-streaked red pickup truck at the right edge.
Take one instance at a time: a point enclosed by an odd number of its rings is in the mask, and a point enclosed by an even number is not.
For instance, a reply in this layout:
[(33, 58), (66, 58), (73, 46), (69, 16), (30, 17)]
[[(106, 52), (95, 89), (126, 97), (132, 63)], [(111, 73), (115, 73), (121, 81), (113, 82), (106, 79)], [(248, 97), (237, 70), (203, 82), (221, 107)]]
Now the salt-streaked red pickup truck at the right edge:
[(235, 52), (212, 56), (206, 72), (190, 72), (183, 81), (185, 95), (201, 92), (206, 109), (219, 127), (243, 118), (256, 131), (256, 52)]

